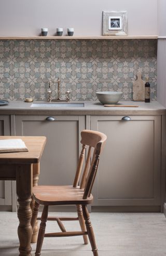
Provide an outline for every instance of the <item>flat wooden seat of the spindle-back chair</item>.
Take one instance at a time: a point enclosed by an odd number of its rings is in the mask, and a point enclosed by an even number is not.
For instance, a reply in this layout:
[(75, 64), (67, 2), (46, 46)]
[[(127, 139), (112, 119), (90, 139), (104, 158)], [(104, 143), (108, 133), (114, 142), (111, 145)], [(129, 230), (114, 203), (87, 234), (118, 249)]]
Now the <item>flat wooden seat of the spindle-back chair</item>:
[(91, 204), (92, 194), (82, 199), (84, 190), (73, 186), (35, 186), (33, 196), (41, 205), (86, 205)]

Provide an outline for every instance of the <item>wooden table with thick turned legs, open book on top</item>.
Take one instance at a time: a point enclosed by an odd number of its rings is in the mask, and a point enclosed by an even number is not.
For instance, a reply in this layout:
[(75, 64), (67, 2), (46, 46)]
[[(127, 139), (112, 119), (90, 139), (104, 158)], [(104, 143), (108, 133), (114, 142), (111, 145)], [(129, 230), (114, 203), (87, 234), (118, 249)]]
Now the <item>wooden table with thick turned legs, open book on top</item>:
[(31, 227), (32, 186), (37, 185), (39, 161), (46, 144), (46, 137), (0, 136), (0, 139), (22, 139), (29, 150), (29, 152), (0, 154), (0, 180), (16, 180), (19, 202), (19, 255), (29, 256), (31, 255), (31, 242), (35, 242), (37, 236), (37, 224), (33, 234)]

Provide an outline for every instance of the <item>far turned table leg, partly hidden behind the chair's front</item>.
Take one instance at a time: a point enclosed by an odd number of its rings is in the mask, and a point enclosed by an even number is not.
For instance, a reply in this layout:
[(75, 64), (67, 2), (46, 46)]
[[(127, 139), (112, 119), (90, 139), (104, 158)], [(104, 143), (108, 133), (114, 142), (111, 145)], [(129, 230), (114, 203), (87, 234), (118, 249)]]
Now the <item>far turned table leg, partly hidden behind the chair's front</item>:
[[(39, 163), (33, 164), (33, 186), (37, 186), (39, 172), (40, 172)], [(33, 210), (33, 207), (34, 207), (34, 203), (35, 203), (35, 200), (32, 198), (32, 202), (31, 202), (31, 209), (32, 210)], [(34, 218), (36, 219), (36, 217), (34, 217)], [(35, 221), (35, 226), (34, 226), (34, 229), (33, 229), (31, 242), (36, 242), (37, 241), (38, 221), (35, 220), (35, 219), (31, 220), (31, 222)]]

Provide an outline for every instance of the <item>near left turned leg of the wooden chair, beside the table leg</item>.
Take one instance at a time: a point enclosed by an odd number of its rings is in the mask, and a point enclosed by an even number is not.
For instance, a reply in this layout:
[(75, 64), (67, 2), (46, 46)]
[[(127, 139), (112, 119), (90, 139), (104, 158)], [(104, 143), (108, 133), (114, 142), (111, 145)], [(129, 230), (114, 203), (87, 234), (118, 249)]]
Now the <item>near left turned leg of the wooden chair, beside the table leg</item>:
[(41, 223), (40, 223), (39, 232), (38, 232), (35, 256), (40, 256), (41, 254), (40, 252), (41, 252), (41, 246), (43, 245), (43, 240), (45, 236), (47, 217), (48, 217), (48, 206), (44, 206), (44, 209), (41, 215)]

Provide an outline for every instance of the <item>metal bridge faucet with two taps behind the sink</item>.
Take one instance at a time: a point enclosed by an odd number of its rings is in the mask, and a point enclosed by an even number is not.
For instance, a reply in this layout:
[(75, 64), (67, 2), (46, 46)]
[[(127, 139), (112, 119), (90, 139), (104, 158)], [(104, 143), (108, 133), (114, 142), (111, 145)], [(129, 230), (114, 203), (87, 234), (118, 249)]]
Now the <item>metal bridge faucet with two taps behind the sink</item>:
[[(70, 91), (66, 91), (66, 98), (62, 99), (61, 98), (61, 92), (60, 92), (60, 78), (58, 77), (57, 81), (55, 80), (50, 80), (49, 82), (49, 89), (48, 89), (48, 101), (51, 102), (69, 102), (70, 101)], [(52, 99), (52, 84), (58, 83), (58, 97), (56, 99)]]

